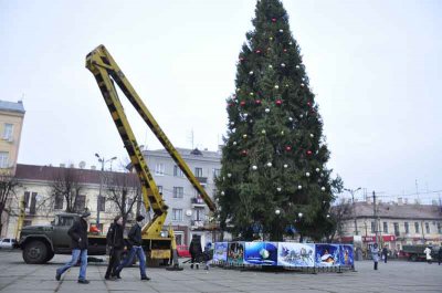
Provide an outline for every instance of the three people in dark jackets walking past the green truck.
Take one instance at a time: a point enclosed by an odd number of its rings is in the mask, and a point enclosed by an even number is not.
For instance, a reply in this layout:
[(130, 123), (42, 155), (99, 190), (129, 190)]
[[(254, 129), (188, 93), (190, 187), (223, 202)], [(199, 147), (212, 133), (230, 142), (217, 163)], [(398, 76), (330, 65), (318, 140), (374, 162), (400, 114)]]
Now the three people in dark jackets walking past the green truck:
[[(70, 268), (81, 261), (78, 283), (88, 284), (86, 279), (87, 268), (87, 227), (91, 212), (84, 212), (78, 221), (69, 229), (67, 234), (71, 237), (72, 259), (70, 262), (59, 268), (55, 272), (55, 279), (61, 280), (62, 274)], [(105, 279), (118, 280), (122, 279), (122, 270), (134, 261), (135, 255), (139, 260), (139, 272), (141, 281), (149, 281), (150, 278), (146, 275), (146, 255), (141, 247), (141, 226), (145, 217), (137, 216), (136, 223), (130, 228), (128, 233), (128, 247), (130, 248), (127, 257), (120, 261), (122, 254), (125, 250), (126, 243), (124, 240), (123, 217), (117, 216), (106, 236), (106, 242), (109, 248), (109, 263), (107, 265)]]

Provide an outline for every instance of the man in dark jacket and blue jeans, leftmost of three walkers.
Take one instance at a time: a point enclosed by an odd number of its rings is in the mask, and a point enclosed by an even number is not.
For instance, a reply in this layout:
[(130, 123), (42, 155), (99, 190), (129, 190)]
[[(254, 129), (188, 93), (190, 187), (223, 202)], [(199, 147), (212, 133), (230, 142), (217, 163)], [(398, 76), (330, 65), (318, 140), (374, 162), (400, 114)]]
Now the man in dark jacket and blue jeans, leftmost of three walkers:
[(87, 268), (87, 219), (91, 212), (85, 211), (78, 220), (67, 230), (67, 234), (71, 237), (72, 259), (70, 262), (59, 268), (55, 271), (55, 280), (60, 281), (62, 274), (74, 266), (81, 260), (78, 283), (88, 284), (86, 280), (86, 268)]

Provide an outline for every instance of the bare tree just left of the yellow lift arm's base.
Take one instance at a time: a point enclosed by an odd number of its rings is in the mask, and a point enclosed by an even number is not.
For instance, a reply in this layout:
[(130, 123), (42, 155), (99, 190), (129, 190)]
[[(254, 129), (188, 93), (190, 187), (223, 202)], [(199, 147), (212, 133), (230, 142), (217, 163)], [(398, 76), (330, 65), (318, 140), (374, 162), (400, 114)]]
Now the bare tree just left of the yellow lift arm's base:
[[(130, 172), (112, 172), (105, 180), (104, 195), (112, 202), (112, 211), (123, 216), (125, 226), (134, 206), (139, 207), (141, 190), (139, 179)], [(137, 211), (136, 211), (137, 212)]]

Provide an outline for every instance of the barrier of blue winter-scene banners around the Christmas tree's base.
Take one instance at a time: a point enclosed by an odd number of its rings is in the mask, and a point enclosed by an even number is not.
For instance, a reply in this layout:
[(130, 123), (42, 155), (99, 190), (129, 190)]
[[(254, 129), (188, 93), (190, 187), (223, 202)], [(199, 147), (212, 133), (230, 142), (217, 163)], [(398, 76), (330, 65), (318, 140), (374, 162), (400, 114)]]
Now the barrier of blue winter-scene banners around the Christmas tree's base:
[(213, 264), (221, 266), (275, 266), (337, 271), (354, 269), (350, 244), (295, 242), (215, 242)]

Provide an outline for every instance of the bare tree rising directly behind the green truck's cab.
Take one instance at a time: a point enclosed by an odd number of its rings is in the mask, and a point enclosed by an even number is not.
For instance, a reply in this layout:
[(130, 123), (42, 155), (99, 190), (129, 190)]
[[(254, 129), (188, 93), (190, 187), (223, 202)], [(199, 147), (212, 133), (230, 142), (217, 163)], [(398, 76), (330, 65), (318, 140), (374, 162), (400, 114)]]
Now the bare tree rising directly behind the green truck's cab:
[[(50, 184), (50, 205), (56, 205), (63, 199), (66, 202), (66, 212), (82, 212), (84, 209), (84, 196), (81, 195), (84, 190), (82, 184), (81, 169), (74, 168), (56, 168), (53, 174), (53, 181)], [(62, 203), (63, 203), (62, 202)]]

